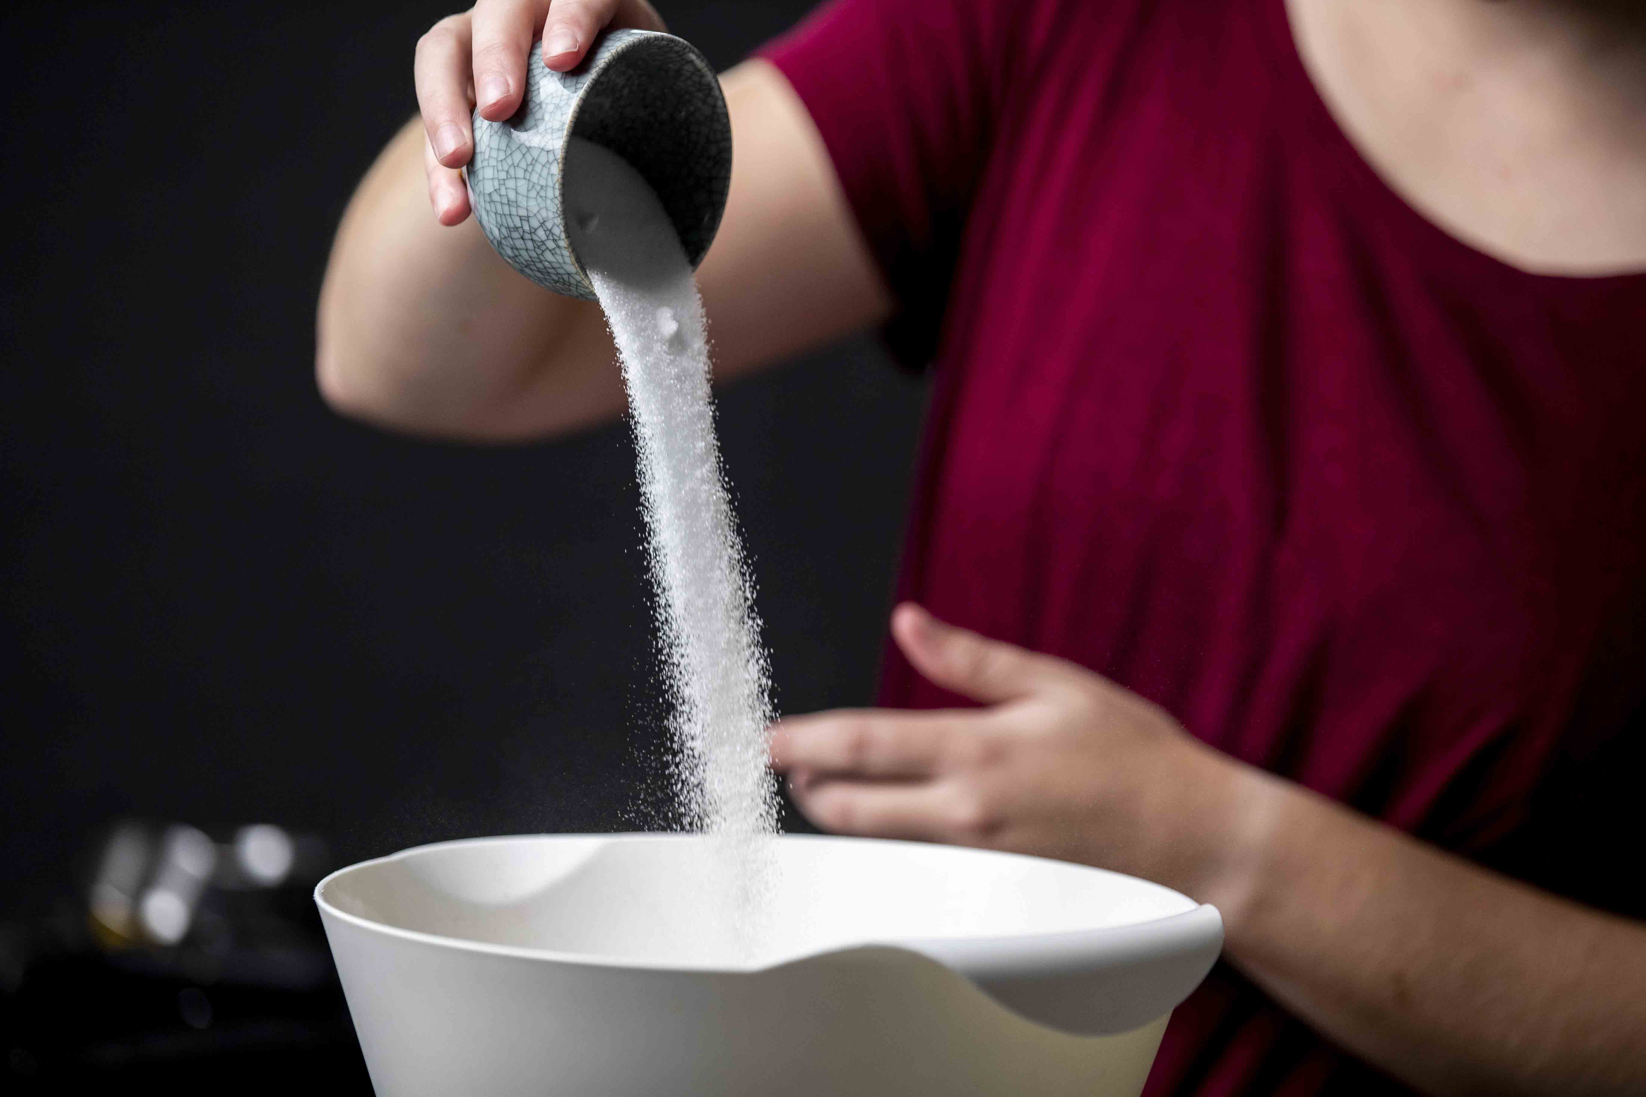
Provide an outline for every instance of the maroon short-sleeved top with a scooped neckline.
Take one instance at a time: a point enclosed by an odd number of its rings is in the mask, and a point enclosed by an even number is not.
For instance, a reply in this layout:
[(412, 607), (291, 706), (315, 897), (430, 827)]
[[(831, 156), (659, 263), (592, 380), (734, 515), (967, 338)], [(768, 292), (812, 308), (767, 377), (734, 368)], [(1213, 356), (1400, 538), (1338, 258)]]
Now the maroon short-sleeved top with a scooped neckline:
[[(1282, 0), (836, 0), (765, 56), (935, 370), (902, 597), (1646, 913), (1605, 847), (1646, 771), (1646, 275), (1424, 220)], [(895, 651), (882, 694), (958, 702)], [(1151, 1077), (1325, 1092), (1402, 1090), (1230, 969)]]

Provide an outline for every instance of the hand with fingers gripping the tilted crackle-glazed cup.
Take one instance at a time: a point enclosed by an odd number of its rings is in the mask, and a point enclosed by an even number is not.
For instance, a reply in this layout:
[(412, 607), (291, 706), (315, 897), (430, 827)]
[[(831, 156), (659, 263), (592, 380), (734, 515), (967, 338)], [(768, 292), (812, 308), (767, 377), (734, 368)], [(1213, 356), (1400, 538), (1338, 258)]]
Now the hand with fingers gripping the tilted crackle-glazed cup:
[(479, 0), (435, 23), (416, 44), (416, 102), (423, 115), (428, 201), (443, 225), (469, 215), (458, 173), (474, 151), (469, 118), (502, 122), (520, 109), (527, 54), (542, 36), (543, 64), (576, 67), (606, 28), (660, 31), (647, 0)]

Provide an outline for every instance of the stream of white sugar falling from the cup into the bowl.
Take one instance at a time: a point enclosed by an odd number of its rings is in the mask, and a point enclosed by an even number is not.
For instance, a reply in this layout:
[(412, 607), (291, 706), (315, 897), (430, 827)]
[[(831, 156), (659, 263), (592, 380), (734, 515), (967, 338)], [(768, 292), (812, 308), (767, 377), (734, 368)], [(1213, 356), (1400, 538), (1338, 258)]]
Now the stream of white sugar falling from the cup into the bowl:
[(627, 161), (571, 138), (563, 194), (629, 390), (680, 806), (716, 837), (711, 900), (729, 901), (732, 944), (752, 951), (775, 875), (770, 674), (714, 436), (703, 299), (673, 224)]

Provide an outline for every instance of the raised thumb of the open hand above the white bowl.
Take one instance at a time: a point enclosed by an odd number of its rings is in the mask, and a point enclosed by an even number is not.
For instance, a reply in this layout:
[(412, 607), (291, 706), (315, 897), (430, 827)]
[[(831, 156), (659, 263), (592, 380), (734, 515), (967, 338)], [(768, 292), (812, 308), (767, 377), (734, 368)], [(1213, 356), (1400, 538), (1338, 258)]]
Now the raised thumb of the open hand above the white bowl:
[(1057, 676), (1053, 660), (940, 622), (914, 602), (892, 610), (892, 636), (930, 681), (984, 704), (1025, 697)]

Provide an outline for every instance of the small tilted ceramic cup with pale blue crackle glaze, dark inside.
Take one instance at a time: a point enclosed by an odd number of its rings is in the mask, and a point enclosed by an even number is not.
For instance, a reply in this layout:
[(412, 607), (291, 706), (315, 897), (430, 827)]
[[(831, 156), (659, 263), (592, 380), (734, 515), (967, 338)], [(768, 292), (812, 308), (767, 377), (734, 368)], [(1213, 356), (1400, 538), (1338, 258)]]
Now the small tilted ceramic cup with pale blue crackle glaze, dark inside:
[(566, 235), (561, 179), (568, 138), (604, 145), (657, 191), (686, 258), (714, 240), (731, 187), (731, 117), (714, 69), (690, 43), (657, 31), (601, 38), (571, 72), (543, 64), (533, 43), (520, 110), (474, 115), (469, 206), (486, 238), (537, 285), (594, 299)]

